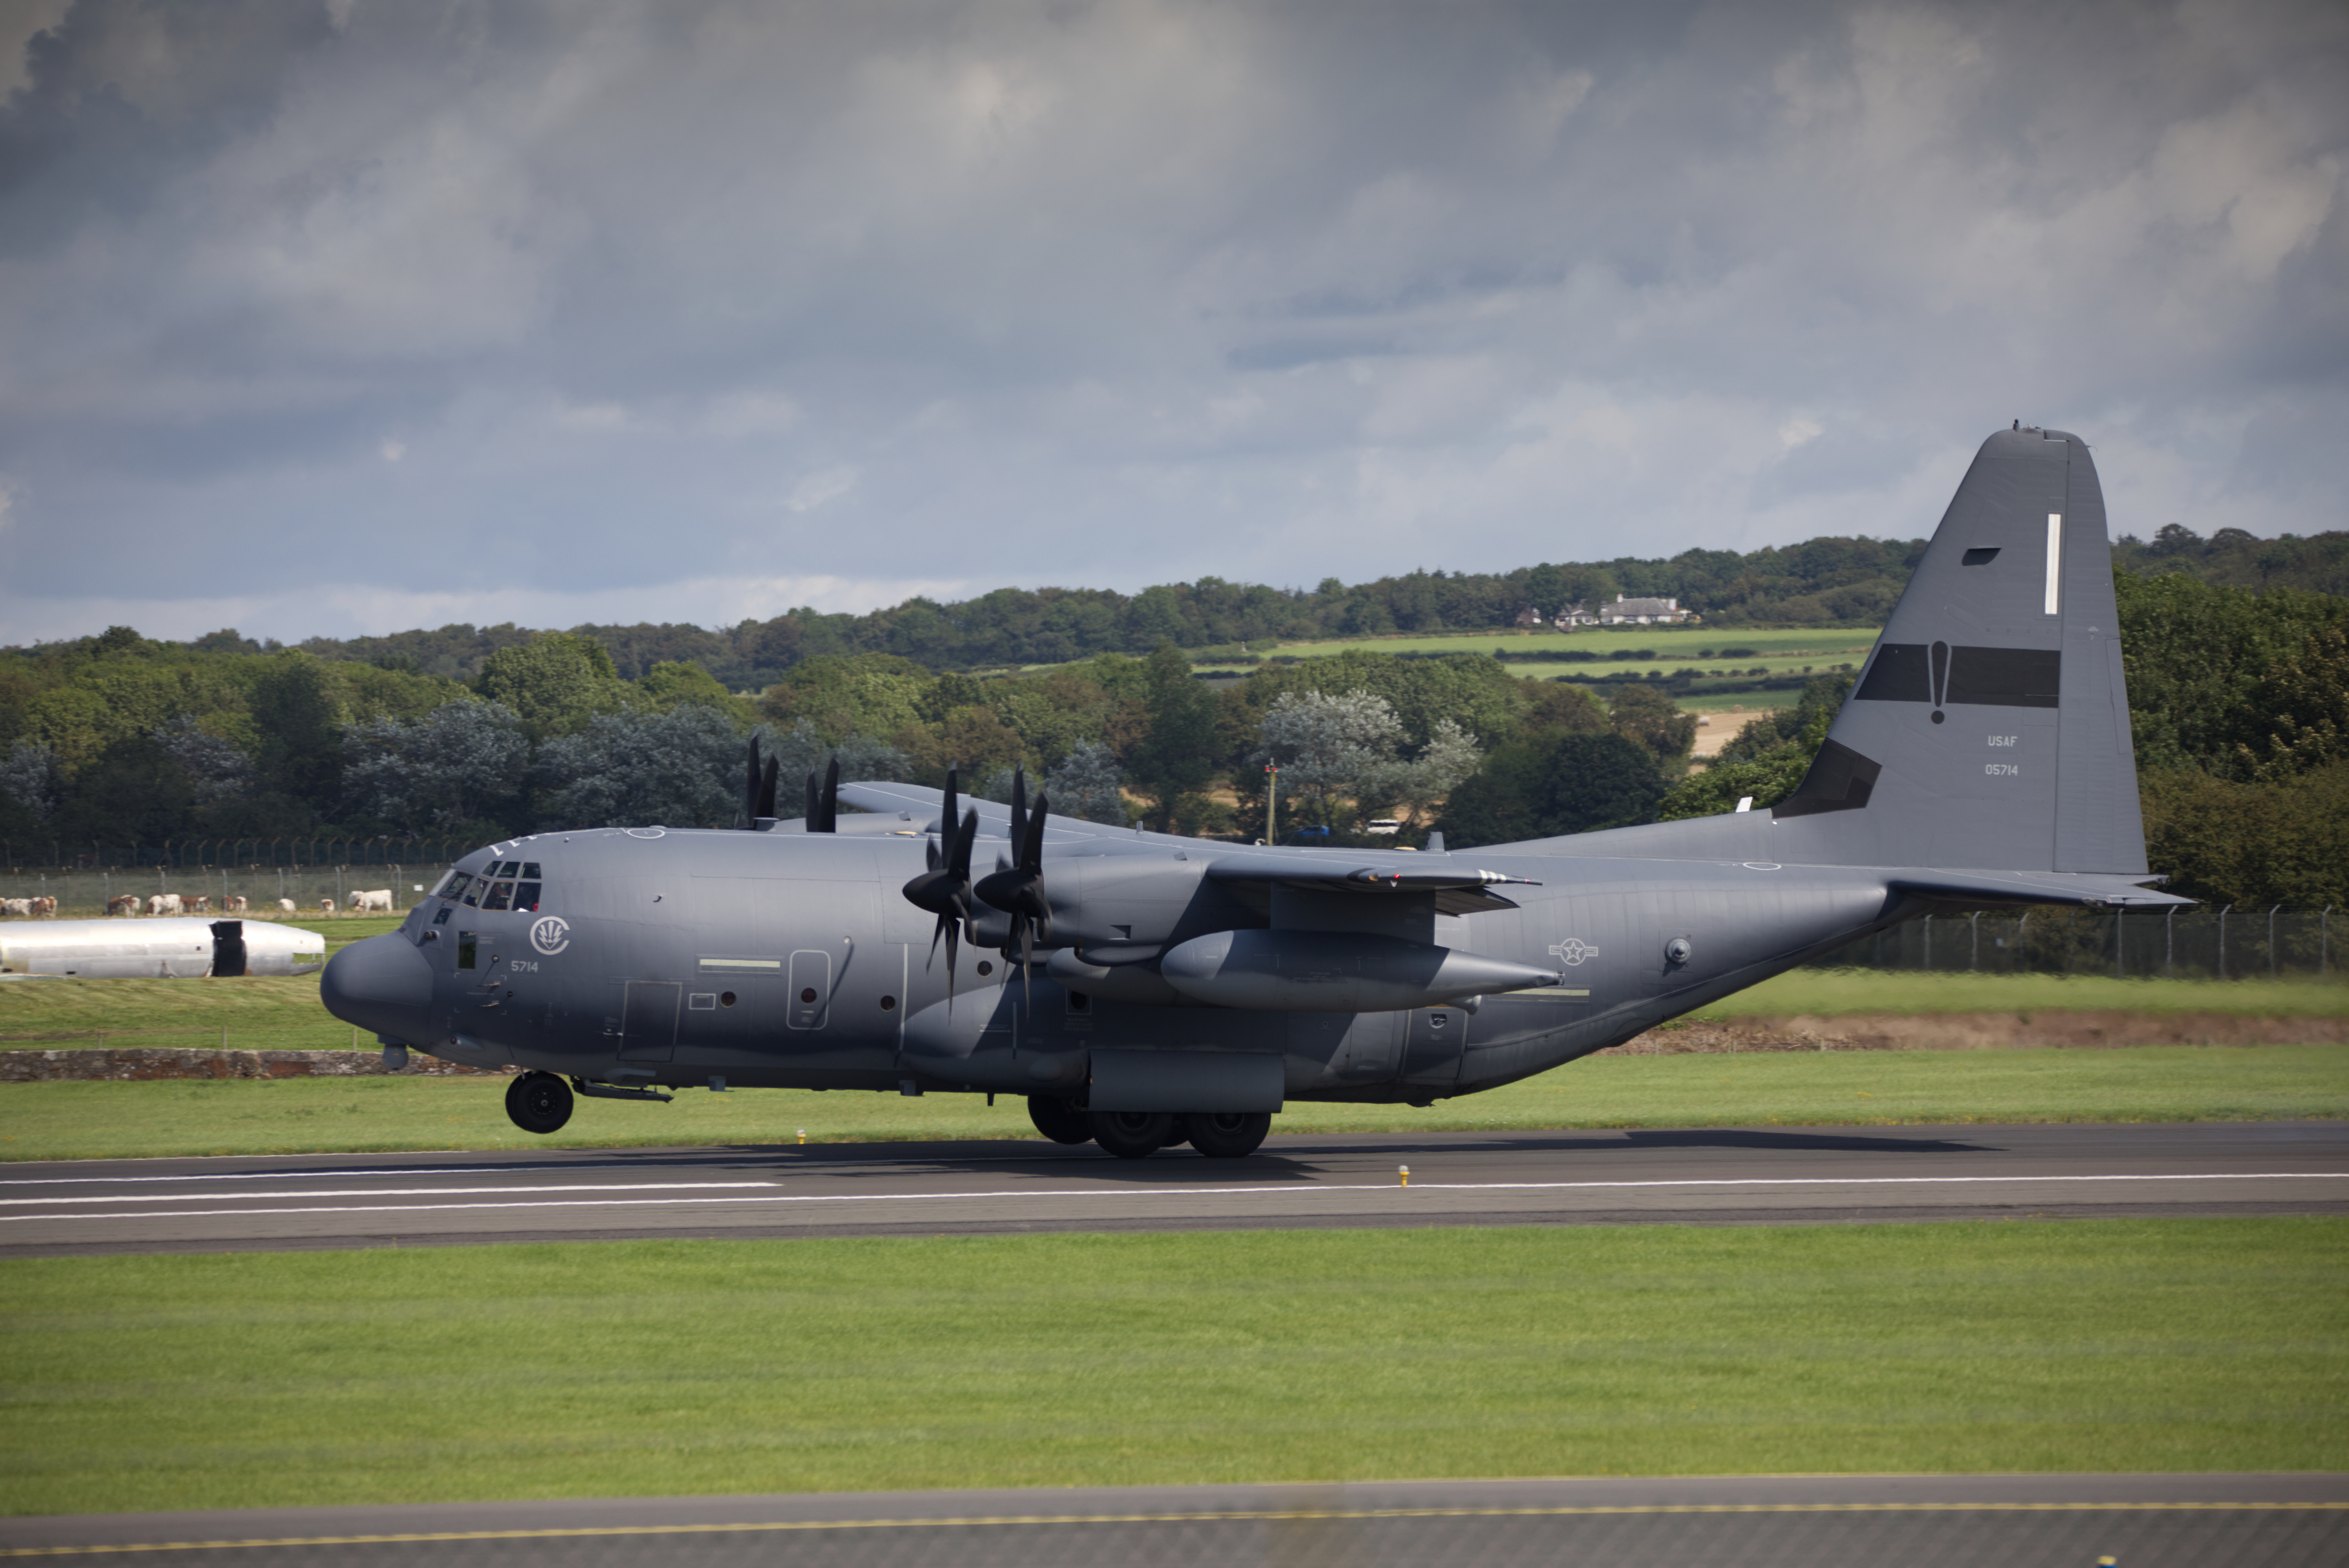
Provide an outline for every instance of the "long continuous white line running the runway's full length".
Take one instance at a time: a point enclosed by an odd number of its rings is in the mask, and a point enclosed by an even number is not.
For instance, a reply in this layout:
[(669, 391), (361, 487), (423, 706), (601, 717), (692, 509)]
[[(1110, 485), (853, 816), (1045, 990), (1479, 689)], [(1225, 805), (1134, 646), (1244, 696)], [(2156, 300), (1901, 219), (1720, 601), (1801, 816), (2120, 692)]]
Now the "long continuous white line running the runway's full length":
[[(975, 1197), (1304, 1197), (1325, 1192), (1581, 1192), (1623, 1188), (1900, 1188), (1900, 1185), (1983, 1185), (2018, 1181), (2349, 1181), (2349, 1171), (2206, 1171), (2161, 1176), (1717, 1176), (1680, 1181), (1428, 1181), (1416, 1188), (1393, 1188), (1384, 1181), (1360, 1183), (1299, 1183), (1257, 1188), (1010, 1188), (1001, 1192), (761, 1192), (756, 1197), (698, 1197), (700, 1204), (933, 1204), (963, 1202)], [(684, 1183), (646, 1183), (662, 1190), (684, 1190)], [(747, 1183), (707, 1183), (747, 1185)], [(423, 1188), (432, 1192), (435, 1188)], [(439, 1188), (446, 1192), (449, 1188)], [(514, 1192), (529, 1188), (484, 1188), (491, 1192)], [(564, 1188), (552, 1188), (564, 1190)], [(578, 1188), (571, 1188), (578, 1190)], [(620, 1188), (627, 1190), (627, 1188)], [(254, 1197), (287, 1197), (284, 1192), (256, 1192)], [(357, 1197), (378, 1197), (362, 1192)], [(0, 1223), (82, 1218), (82, 1221), (169, 1221), (237, 1214), (420, 1214), (428, 1209), (639, 1209), (667, 1204), (665, 1197), (613, 1197), (613, 1199), (526, 1199), (493, 1204), (315, 1204), (303, 1209), (155, 1209), (148, 1214), (0, 1214)]]

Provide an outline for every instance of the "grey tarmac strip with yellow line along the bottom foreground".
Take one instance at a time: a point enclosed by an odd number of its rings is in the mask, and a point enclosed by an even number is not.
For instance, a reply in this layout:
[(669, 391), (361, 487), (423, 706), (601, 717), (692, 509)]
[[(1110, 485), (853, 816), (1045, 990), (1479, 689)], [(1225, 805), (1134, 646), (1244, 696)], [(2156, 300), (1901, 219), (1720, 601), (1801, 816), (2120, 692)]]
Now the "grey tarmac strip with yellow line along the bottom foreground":
[(369, 1568), (2337, 1563), (2349, 1476), (1651, 1476), (604, 1498), (0, 1521), (0, 1556)]

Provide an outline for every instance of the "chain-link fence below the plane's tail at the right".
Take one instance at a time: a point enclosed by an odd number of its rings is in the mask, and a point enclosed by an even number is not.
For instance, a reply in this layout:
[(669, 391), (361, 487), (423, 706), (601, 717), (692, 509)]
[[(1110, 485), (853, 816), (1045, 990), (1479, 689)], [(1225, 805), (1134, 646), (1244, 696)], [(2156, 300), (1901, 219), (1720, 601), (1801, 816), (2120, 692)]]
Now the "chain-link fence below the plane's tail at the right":
[(1813, 969), (2309, 979), (2337, 972), (2333, 908), (2032, 908), (1940, 913), (1863, 937)]

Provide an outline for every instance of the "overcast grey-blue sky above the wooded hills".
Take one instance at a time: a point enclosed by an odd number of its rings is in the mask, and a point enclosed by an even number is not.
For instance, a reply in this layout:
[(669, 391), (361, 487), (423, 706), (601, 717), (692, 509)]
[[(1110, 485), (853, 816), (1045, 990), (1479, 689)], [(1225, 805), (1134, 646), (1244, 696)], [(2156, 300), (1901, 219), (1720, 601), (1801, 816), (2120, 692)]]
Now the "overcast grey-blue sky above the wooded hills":
[(2349, 526), (2349, 7), (0, 0), (0, 641)]

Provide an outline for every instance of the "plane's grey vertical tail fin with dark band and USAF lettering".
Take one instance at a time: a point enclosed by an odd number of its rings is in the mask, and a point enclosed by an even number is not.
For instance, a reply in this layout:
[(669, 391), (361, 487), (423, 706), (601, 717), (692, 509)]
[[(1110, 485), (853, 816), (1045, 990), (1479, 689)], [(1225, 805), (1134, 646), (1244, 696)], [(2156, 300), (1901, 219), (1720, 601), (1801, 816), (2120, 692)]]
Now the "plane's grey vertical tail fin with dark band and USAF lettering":
[(2079, 437), (1983, 441), (1773, 819), (1790, 861), (2145, 873), (2105, 493)]

